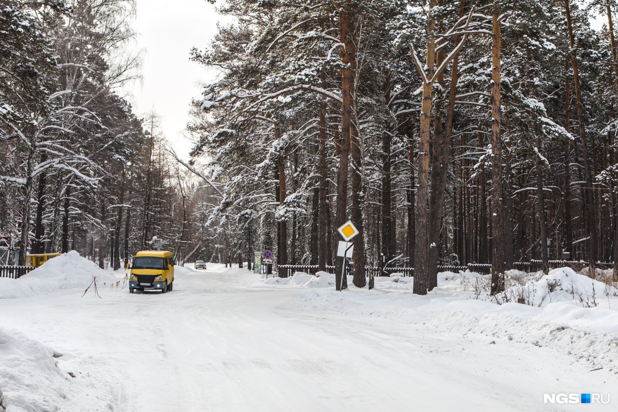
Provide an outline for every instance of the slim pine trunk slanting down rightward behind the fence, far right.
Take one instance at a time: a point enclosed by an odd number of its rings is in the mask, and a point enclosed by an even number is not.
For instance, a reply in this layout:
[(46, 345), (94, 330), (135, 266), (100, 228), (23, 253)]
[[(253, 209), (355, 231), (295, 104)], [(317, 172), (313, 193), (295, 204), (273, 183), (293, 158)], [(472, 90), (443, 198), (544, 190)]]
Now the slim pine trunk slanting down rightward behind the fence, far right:
[(590, 169), (590, 161), (588, 160), (588, 146), (586, 146), (586, 129), (584, 125), (583, 99), (582, 90), (580, 87), (580, 78), (577, 62), (577, 53), (575, 52), (575, 36), (573, 35), (573, 24), (571, 20), (571, 12), (569, 0), (564, 0), (564, 9), (567, 16), (567, 30), (569, 31), (569, 44), (571, 61), (573, 64), (573, 83), (575, 85), (575, 99), (577, 100), (577, 120), (579, 123), (580, 141), (582, 143), (582, 159), (584, 174), (586, 177), (586, 204), (588, 205), (588, 261), (590, 261), (590, 272), (595, 272), (596, 261), (596, 209), (595, 209), (595, 193), (592, 185), (592, 174)]

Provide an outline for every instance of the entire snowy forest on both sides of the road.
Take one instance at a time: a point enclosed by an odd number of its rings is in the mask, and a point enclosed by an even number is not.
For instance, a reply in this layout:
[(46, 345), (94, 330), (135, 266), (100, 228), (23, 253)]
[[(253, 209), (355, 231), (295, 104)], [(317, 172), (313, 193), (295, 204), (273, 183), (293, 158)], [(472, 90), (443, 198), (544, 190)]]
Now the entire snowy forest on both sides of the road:
[(497, 293), (517, 262), (618, 262), (617, 6), (228, 0), (191, 52), (220, 76), (183, 162), (118, 94), (132, 1), (3, 1), (0, 235), (16, 264), (120, 267), (156, 236), (180, 263), (323, 270), (351, 219), (355, 285), (407, 266), (423, 294), (441, 264), (492, 264)]

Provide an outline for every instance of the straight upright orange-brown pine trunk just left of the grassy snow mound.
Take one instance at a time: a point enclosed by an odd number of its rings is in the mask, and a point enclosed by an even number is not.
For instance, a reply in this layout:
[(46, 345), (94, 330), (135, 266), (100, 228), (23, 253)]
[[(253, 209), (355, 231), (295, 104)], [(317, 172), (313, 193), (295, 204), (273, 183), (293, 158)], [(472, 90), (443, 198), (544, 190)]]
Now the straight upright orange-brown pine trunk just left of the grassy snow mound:
[(494, 5), (493, 33), (491, 36), (491, 294), (504, 290), (504, 209), (502, 202), (502, 140), (500, 138), (500, 7)]

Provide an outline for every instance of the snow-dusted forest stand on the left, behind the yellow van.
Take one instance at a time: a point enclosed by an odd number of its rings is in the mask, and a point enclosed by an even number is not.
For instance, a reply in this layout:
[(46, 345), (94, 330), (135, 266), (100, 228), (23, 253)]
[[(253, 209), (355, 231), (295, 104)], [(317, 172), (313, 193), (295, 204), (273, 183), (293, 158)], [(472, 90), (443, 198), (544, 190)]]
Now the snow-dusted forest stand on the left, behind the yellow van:
[(210, 259), (208, 189), (178, 167), (156, 113), (136, 116), (119, 96), (140, 76), (134, 7), (2, 1), (0, 235), (19, 250), (11, 264), (77, 250), (117, 269), (155, 236), (180, 263)]

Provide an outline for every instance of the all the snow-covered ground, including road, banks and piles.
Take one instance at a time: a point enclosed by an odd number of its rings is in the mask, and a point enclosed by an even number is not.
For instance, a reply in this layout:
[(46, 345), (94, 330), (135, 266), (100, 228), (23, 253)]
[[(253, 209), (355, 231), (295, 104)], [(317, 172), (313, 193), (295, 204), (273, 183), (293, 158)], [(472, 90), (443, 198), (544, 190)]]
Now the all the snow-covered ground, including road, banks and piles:
[(98, 298), (81, 297), (79, 259), (45, 274), (61, 258), (0, 284), (12, 290), (0, 298), (9, 412), (562, 411), (582, 406), (543, 394), (589, 392), (612, 398), (585, 408), (616, 410), (618, 298), (569, 271), (528, 275), (503, 296), (540, 306), (497, 305), (469, 273), (417, 296), (411, 278), (376, 278), (371, 291), (350, 278), (336, 292), (326, 273), (267, 280), (218, 264), (177, 267), (165, 295), (109, 288), (124, 271), (108, 271)]

